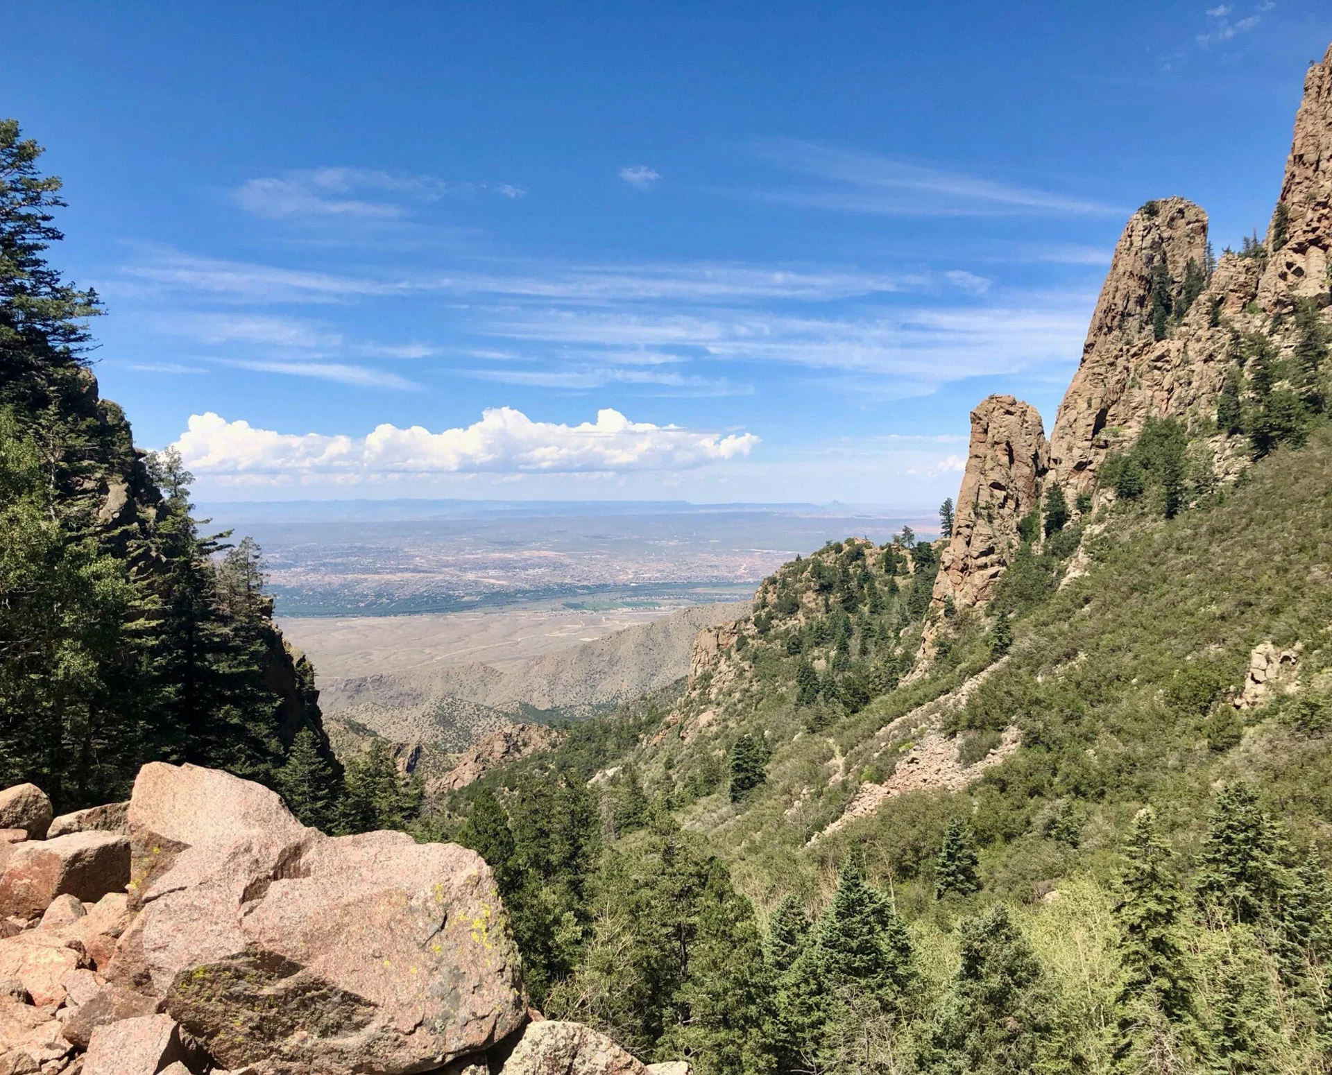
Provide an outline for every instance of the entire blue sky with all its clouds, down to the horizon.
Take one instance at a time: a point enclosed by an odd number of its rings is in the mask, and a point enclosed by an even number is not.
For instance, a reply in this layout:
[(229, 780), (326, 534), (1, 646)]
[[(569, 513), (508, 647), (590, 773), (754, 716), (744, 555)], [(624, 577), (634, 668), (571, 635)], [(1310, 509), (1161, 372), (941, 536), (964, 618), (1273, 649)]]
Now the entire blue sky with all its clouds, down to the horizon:
[(935, 504), (1128, 213), (1265, 226), (1325, 3), (13, 4), (97, 374), (208, 500)]

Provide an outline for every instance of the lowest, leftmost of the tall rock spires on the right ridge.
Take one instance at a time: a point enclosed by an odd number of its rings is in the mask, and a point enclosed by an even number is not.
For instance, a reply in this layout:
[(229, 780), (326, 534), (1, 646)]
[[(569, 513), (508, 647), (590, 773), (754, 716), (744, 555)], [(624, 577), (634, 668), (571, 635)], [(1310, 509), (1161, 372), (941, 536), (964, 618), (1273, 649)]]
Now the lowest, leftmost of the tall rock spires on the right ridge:
[(952, 539), (939, 558), (935, 605), (951, 598), (960, 609), (990, 599), (1022, 543), (1019, 520), (1040, 502), (1046, 454), (1040, 414), (1030, 404), (991, 396), (971, 412), (971, 448)]

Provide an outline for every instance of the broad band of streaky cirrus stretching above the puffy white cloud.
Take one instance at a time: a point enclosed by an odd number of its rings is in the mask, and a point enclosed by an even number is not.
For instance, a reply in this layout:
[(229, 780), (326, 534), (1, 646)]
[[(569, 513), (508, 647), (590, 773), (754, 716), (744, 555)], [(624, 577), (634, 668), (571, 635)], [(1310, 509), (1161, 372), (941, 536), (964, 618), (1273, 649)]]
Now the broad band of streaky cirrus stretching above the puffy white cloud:
[[(1019, 252), (1020, 258), (1074, 264), (1091, 262), (1094, 253), (1100, 256), (1090, 248)], [(884, 273), (826, 265), (486, 261), (449, 273), (389, 276), (157, 252), (127, 272), (172, 300), (238, 308), (174, 313), (161, 328), (213, 349), (218, 360), (394, 389), (442, 374), (569, 392), (618, 386), (730, 396), (751, 393), (766, 365), (803, 368), (835, 392), (902, 398), (966, 377), (1062, 369), (1080, 352), (1095, 300), (1078, 289), (1003, 289), (991, 274), (962, 268)], [(330, 302), (425, 294), (449, 300), (448, 345), (354, 340), (322, 316), (332, 314)], [(321, 317), (265, 310), (265, 298), (308, 304)], [(237, 348), (250, 353), (237, 356)], [(410, 358), (441, 364), (413, 380), (373, 365)], [(747, 369), (718, 369), (727, 364)]]

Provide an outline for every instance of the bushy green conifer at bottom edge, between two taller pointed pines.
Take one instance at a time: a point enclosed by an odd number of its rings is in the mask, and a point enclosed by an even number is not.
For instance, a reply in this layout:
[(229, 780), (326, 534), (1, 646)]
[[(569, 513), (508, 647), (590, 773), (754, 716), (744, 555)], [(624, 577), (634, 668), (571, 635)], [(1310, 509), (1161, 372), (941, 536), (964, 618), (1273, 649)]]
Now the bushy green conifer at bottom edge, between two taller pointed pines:
[(923, 1035), (919, 1067), (938, 1075), (1028, 1075), (1055, 1003), (1031, 946), (996, 903), (962, 923), (962, 966)]

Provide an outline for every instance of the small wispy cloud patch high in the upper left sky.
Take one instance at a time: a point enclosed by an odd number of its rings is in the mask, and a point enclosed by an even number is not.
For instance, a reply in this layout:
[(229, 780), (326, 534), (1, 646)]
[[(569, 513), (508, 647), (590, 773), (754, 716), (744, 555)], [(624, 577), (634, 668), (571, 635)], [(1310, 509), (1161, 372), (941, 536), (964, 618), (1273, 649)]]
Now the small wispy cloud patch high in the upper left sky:
[(507, 198), (526, 190), (510, 184), (446, 182), (436, 176), (404, 176), (369, 168), (309, 168), (246, 180), (232, 197), (248, 213), (280, 217), (401, 217), (413, 202), (446, 194), (490, 192)]

